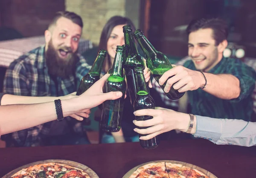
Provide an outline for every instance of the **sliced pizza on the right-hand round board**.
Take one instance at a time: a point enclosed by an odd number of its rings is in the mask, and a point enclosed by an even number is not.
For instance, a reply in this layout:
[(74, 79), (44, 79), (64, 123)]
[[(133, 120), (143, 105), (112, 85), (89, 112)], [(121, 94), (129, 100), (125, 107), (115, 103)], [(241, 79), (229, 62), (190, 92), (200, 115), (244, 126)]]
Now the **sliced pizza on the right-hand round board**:
[(203, 172), (171, 162), (145, 164), (136, 169), (129, 178), (209, 178)]

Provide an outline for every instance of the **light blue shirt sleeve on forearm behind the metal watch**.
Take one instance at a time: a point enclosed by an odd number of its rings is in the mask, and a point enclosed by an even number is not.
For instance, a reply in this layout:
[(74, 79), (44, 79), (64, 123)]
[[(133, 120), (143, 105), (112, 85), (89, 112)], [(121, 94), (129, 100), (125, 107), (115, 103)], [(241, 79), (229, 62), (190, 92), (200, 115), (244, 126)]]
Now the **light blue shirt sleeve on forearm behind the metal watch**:
[(195, 137), (215, 144), (253, 146), (256, 144), (256, 123), (237, 119), (215, 119), (197, 116)]

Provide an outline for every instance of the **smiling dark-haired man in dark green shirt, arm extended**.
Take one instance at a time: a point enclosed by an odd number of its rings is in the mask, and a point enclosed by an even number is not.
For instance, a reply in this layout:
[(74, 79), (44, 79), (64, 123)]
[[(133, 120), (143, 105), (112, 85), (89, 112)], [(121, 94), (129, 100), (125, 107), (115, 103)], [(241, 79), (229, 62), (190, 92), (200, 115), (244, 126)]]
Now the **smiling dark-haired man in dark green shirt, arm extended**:
[(165, 72), (159, 83), (174, 75), (167, 81), (165, 91), (173, 83), (179, 92), (188, 91), (192, 114), (250, 121), (256, 73), (239, 59), (223, 57), (228, 35), (225, 21), (218, 18), (192, 21), (187, 34), (192, 60)]

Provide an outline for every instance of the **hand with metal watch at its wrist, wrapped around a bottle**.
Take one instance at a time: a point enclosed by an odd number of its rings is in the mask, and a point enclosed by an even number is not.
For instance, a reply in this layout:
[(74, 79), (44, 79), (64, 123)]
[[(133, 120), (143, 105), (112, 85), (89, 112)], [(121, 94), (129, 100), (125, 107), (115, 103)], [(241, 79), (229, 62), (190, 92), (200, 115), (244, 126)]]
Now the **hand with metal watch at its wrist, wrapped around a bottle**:
[[(140, 134), (148, 134), (140, 137), (141, 140), (148, 140), (160, 135), (164, 132), (169, 132), (173, 129), (178, 129), (182, 132), (186, 132), (189, 128), (190, 117), (189, 114), (176, 112), (172, 109), (165, 109), (156, 107), (155, 109), (141, 109), (134, 112), (134, 115), (150, 115), (152, 119), (146, 121), (136, 121), (134, 124), (139, 127), (148, 127), (147, 129), (137, 129), (134, 131)], [(196, 117), (194, 118), (194, 125), (196, 128)], [(191, 133), (195, 133), (195, 128)]]

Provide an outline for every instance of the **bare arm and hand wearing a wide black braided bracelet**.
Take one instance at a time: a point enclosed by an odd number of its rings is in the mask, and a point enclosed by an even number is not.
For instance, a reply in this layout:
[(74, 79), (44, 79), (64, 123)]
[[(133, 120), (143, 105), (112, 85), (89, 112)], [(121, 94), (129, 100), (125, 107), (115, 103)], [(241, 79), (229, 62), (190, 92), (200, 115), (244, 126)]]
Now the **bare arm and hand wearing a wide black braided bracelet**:
[[(102, 77), (82, 95), (69, 100), (61, 100), (64, 117), (82, 113), (84, 110), (98, 106), (105, 100), (120, 98), (122, 92), (102, 92), (102, 87), (108, 76)], [(5, 102), (4, 96), (3, 102)], [(37, 126), (57, 118), (54, 102), (0, 106), (0, 115), (0, 135)], [(84, 114), (84, 117), (89, 117), (89, 115)]]

